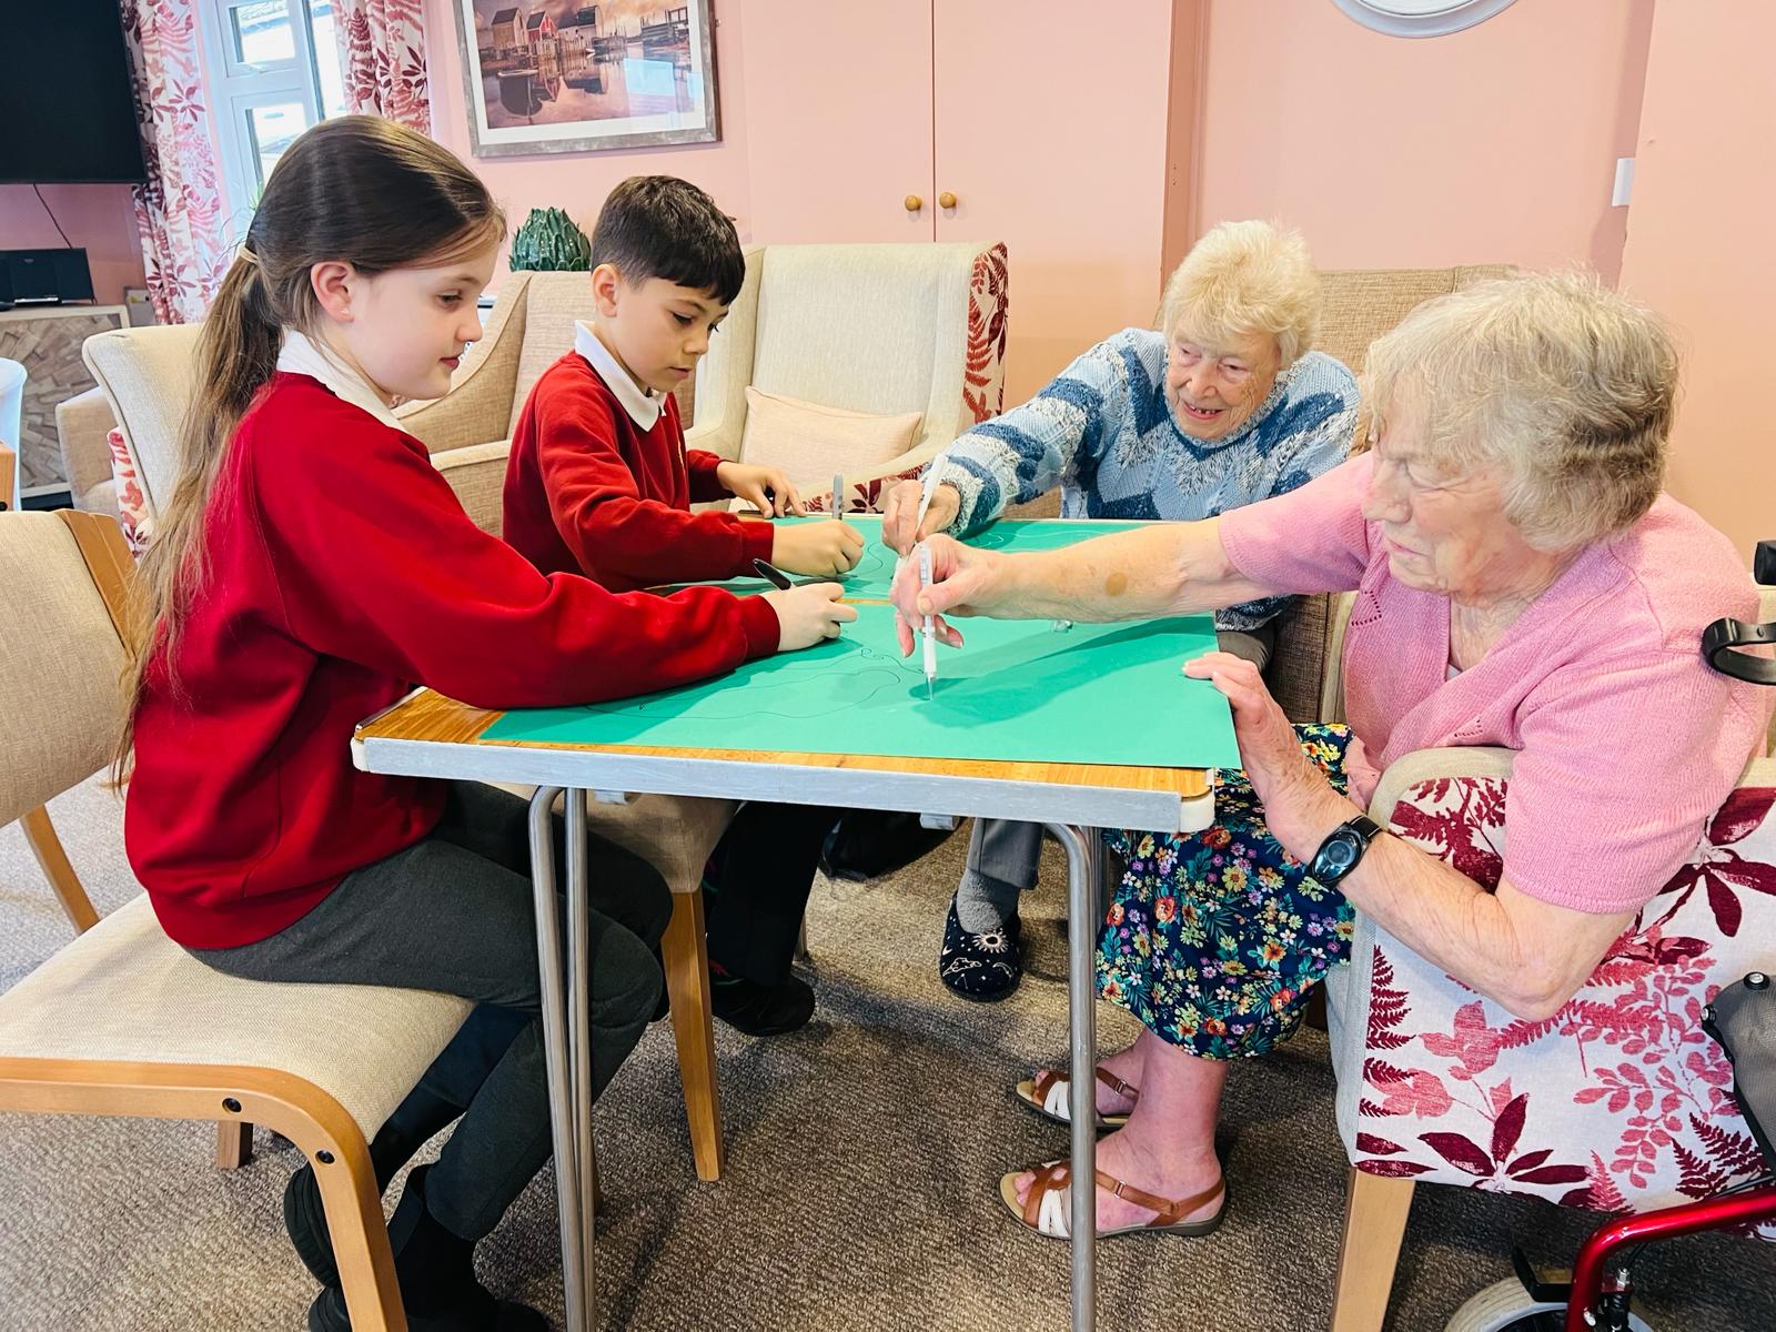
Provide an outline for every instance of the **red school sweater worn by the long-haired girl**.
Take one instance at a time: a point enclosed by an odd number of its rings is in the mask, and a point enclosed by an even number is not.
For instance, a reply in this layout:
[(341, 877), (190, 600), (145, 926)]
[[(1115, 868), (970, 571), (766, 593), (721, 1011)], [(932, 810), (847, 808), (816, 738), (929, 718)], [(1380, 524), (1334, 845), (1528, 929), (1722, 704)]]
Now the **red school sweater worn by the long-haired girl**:
[(305, 375), (242, 419), (210, 572), (135, 718), (130, 865), (167, 934), (229, 948), (423, 838), (444, 783), (352, 765), (353, 726), (428, 684), (474, 707), (590, 703), (776, 650), (762, 599), (613, 595), (480, 531), (419, 440)]

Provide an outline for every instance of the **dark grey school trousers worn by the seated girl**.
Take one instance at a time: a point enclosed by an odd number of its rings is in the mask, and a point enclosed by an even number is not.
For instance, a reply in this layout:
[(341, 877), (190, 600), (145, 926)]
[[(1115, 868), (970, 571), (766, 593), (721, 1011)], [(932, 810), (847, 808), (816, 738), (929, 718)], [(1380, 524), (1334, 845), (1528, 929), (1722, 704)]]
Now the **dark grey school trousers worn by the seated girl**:
[[(563, 821), (554, 822), (556, 865), (565, 867)], [(597, 836), (588, 870), (597, 1096), (659, 1003), (655, 950), (671, 895), (652, 865)], [(403, 1121), (401, 1137), (417, 1147), (462, 1115), (426, 1177), (426, 1204), (453, 1234), (480, 1240), (552, 1151), (533, 904), (529, 805), (460, 781), (426, 838), (353, 870), (302, 920), (258, 943), (190, 952), (250, 980), (396, 986), (474, 1000), (462, 1030), (389, 1122)], [(559, 888), (556, 906), (565, 936)]]

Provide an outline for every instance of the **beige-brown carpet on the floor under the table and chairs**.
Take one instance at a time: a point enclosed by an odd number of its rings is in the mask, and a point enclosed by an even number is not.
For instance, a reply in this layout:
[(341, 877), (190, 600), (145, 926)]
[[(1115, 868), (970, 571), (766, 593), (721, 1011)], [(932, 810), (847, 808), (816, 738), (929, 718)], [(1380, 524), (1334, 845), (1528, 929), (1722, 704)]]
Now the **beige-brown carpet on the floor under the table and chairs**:
[[(52, 805), (99, 911), (133, 883), (121, 812), (96, 783)], [(719, 1028), (728, 1174), (691, 1170), (671, 1039), (657, 1025), (599, 1106), (607, 1209), (599, 1286), (611, 1328), (1060, 1328), (1067, 1249), (1003, 1217), (1002, 1170), (1066, 1153), (1064, 1130), (1009, 1087), (1066, 1048), (1057, 888), (1027, 899), (1032, 971), (1007, 1003), (952, 1000), (936, 979), (941, 909), (963, 840), (883, 884), (819, 884), (810, 916), (821, 1011), (792, 1037)], [(1055, 849), (1050, 847), (1050, 852)], [(0, 987), (67, 938), (18, 828), (0, 829)], [(1103, 1041), (1128, 1035), (1101, 1009)], [(1325, 1039), (1234, 1069), (1224, 1147), (1236, 1209), (1208, 1240), (1103, 1245), (1099, 1327), (1318, 1328), (1330, 1309), (1344, 1162)], [(300, 1328), (313, 1282), (282, 1238), (297, 1154), (261, 1144), (210, 1165), (208, 1126), (0, 1115), (0, 1328)], [(1442, 1328), (1508, 1275), (1526, 1241), (1566, 1261), (1579, 1213), (1421, 1188), (1389, 1327)], [(481, 1250), (496, 1291), (559, 1325), (547, 1177)], [(1659, 1332), (1776, 1328), (1776, 1250), (1721, 1236), (1641, 1265)]]

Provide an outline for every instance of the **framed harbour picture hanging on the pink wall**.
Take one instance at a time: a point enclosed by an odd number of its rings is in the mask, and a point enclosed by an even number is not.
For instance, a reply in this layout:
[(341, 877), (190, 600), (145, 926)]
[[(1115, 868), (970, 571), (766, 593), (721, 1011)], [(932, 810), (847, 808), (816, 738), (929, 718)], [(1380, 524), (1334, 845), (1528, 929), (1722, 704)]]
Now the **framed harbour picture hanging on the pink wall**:
[(456, 0), (474, 155), (712, 144), (712, 0)]

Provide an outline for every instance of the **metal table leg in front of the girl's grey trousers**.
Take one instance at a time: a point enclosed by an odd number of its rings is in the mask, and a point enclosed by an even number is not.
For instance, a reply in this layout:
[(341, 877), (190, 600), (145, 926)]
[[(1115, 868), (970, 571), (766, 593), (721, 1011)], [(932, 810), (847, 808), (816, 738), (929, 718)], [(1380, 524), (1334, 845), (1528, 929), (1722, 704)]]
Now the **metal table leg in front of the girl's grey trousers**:
[[(531, 797), (531, 886), (536, 906), (536, 964), (542, 973), (543, 1051), (549, 1067), (549, 1124), (556, 1158), (556, 1199), (561, 1220), (561, 1284), (568, 1332), (586, 1332), (591, 1309), (586, 1289), (586, 1241), (581, 1233), (579, 1167), (574, 1114), (574, 1069), (567, 996), (561, 982), (561, 925), (556, 916), (554, 829), (549, 817), (559, 787), (538, 787)], [(584, 792), (581, 797), (581, 877), (584, 877)], [(572, 828), (572, 822), (568, 824)], [(572, 860), (572, 844), (568, 858)], [(583, 952), (575, 948), (575, 952)], [(579, 968), (583, 970), (583, 968)], [(590, 1225), (586, 1227), (590, 1231)]]

